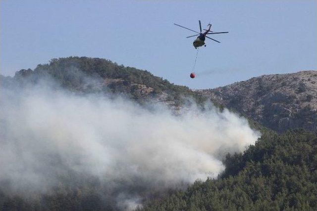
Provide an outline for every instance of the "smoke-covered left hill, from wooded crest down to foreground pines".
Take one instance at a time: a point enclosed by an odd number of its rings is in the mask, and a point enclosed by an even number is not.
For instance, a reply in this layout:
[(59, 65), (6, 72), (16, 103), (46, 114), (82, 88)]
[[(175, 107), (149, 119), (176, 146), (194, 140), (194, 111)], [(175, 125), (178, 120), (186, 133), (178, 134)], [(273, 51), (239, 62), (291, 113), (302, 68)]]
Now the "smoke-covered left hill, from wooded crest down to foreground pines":
[(0, 210), (133, 210), (216, 176), (219, 154), (259, 137), (214, 107), (175, 115), (203, 101), (105, 59), (53, 59), (0, 81)]

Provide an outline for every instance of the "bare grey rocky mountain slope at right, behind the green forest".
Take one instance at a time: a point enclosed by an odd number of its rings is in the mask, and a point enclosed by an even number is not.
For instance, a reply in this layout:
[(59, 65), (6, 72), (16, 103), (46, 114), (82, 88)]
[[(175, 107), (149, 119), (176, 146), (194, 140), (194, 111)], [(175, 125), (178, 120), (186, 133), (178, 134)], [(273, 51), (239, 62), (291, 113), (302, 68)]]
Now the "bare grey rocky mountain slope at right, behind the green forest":
[(317, 130), (317, 71), (263, 75), (198, 93), (278, 132)]

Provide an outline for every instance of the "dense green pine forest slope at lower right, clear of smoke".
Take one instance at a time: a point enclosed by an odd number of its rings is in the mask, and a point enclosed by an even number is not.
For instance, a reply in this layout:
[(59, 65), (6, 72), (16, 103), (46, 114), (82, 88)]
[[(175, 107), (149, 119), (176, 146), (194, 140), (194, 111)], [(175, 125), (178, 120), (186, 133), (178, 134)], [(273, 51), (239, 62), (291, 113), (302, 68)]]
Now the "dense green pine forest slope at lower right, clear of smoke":
[(316, 210), (317, 134), (267, 133), (244, 154), (227, 155), (218, 179), (196, 181), (186, 191), (144, 210)]

